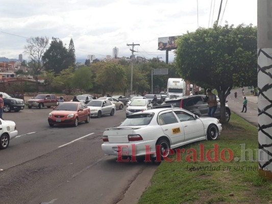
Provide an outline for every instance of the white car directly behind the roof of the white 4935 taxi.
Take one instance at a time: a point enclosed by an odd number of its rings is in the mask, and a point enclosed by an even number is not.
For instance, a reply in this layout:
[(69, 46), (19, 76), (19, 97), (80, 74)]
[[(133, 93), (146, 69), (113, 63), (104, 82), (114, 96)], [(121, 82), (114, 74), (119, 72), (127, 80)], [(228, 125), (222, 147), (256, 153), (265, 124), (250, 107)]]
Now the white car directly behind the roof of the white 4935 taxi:
[(149, 110), (152, 108), (150, 100), (137, 98), (131, 101), (130, 105), (126, 109), (126, 115), (130, 115), (139, 111)]

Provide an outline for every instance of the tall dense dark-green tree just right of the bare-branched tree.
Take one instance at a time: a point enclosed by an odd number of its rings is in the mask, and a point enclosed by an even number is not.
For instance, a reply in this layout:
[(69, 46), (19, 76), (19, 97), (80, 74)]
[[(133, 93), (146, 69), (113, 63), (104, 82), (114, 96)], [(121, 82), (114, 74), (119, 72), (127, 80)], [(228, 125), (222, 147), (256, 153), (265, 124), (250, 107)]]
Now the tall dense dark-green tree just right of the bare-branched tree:
[(61, 70), (67, 69), (68, 51), (63, 45), (63, 42), (58, 38), (52, 38), (50, 47), (46, 50), (42, 56), (45, 70), (54, 70), (55, 73), (60, 73)]

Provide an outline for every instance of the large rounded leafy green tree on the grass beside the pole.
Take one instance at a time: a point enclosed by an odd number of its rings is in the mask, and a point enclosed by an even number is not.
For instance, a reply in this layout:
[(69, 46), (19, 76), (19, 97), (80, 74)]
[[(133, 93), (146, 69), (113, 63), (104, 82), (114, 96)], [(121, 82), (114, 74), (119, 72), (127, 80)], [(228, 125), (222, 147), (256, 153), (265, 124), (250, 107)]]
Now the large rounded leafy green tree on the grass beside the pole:
[(215, 23), (213, 28), (187, 32), (177, 43), (178, 73), (191, 83), (217, 90), (221, 122), (225, 122), (225, 103), (231, 89), (257, 84), (257, 28)]

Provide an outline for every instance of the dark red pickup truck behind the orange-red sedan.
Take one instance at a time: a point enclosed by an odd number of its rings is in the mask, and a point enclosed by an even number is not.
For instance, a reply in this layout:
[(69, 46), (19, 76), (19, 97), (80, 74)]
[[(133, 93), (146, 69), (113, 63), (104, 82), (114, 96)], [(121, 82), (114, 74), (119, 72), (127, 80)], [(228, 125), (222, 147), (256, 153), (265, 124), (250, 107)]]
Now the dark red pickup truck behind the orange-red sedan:
[(26, 105), (29, 109), (32, 107), (50, 108), (51, 106), (57, 106), (58, 98), (55, 94), (38, 94), (34, 98), (27, 100)]

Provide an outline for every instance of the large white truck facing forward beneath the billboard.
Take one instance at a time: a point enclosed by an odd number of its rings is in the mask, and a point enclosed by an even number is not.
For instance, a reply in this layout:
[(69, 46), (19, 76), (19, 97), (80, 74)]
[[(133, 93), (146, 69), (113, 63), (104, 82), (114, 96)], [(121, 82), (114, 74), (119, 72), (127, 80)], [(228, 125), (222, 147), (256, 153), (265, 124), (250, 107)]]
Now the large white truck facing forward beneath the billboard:
[(185, 96), (186, 82), (181, 78), (169, 78), (167, 82), (167, 99)]

